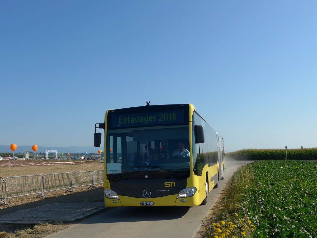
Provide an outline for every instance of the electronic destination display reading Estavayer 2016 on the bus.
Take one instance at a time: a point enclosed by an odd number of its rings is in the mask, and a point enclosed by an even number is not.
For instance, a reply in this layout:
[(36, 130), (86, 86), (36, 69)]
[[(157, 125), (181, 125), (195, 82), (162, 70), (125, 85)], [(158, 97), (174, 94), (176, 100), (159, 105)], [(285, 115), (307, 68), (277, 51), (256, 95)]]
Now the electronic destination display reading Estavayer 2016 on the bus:
[[(109, 119), (109, 118), (108, 118)], [(134, 127), (184, 123), (184, 110), (167, 109), (142, 112), (113, 113), (111, 127)]]

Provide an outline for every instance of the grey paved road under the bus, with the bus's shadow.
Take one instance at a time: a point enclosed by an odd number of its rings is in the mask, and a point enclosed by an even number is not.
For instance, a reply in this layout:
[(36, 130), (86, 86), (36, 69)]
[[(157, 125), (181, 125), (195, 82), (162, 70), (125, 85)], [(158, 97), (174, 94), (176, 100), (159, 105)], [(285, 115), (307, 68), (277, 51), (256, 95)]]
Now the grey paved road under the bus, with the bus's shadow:
[[(249, 161), (248, 161), (249, 162)], [(224, 180), (214, 188), (204, 206), (198, 207), (120, 207), (107, 211), (81, 224), (47, 236), (49, 238), (161, 238), (195, 237), (201, 221), (209, 213), (225, 183), (246, 161), (226, 162)]]

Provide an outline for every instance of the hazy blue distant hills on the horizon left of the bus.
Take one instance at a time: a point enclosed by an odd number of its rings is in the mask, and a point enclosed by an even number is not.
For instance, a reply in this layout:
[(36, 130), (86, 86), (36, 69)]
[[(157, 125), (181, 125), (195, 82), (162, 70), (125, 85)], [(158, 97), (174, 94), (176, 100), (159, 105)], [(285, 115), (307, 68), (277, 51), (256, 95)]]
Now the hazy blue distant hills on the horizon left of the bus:
[[(94, 146), (69, 146), (69, 147), (44, 147), (44, 146), (38, 146), (36, 152), (40, 153), (45, 153), (46, 150), (52, 150), (52, 149), (57, 149), (58, 150), (58, 154), (60, 154), (61, 152), (63, 153), (97, 153), (98, 150), (102, 149), (103, 147), (94, 147)], [(24, 153), (26, 150), (29, 150), (30, 153), (33, 152), (32, 150), (32, 145), (18, 145), (18, 147), (16, 148), (16, 150), (14, 151), (15, 153), (20, 152)], [(0, 153), (12, 153), (12, 150), (10, 150), (10, 145), (0, 145)]]

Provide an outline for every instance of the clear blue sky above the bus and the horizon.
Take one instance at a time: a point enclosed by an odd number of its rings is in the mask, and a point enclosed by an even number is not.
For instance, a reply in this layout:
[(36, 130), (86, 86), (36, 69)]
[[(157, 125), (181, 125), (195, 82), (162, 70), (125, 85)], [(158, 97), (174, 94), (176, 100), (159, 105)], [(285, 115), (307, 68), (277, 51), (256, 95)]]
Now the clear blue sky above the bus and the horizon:
[(0, 144), (192, 103), (226, 151), (317, 147), (316, 1), (1, 1)]

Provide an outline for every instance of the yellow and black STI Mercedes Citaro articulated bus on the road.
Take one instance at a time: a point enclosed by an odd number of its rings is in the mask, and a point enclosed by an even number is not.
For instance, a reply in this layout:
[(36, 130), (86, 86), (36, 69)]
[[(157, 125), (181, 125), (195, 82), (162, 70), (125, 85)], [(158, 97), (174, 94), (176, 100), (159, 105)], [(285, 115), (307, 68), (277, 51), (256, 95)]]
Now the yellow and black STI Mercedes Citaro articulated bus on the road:
[(104, 129), (106, 207), (198, 206), (223, 179), (223, 138), (192, 104), (108, 110)]

